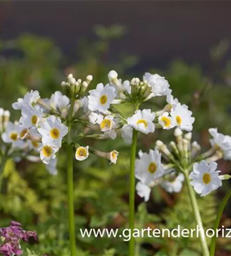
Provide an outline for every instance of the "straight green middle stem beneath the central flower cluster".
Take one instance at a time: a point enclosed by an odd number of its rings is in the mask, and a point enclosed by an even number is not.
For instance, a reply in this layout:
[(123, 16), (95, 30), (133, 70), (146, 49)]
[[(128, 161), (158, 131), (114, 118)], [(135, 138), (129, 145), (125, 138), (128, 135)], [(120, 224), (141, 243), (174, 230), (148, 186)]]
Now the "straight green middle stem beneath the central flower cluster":
[[(135, 154), (137, 143), (137, 131), (133, 130), (132, 145), (131, 145), (131, 158), (130, 158), (130, 186), (129, 186), (129, 229), (131, 232), (134, 230), (134, 217), (135, 217)], [(131, 236), (129, 241), (129, 256), (134, 256), (135, 240)]]

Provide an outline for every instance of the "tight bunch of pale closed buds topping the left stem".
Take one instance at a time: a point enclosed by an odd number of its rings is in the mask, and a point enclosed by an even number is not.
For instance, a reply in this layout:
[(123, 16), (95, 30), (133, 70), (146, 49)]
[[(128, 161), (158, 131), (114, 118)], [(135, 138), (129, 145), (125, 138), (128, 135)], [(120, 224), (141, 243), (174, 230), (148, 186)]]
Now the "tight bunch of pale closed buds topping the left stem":
[(69, 74), (67, 76), (67, 81), (61, 82), (61, 86), (67, 97), (70, 99), (76, 99), (78, 96), (84, 95), (84, 92), (92, 80), (92, 75), (87, 75), (86, 79), (82, 81), (80, 78), (76, 80), (73, 74)]

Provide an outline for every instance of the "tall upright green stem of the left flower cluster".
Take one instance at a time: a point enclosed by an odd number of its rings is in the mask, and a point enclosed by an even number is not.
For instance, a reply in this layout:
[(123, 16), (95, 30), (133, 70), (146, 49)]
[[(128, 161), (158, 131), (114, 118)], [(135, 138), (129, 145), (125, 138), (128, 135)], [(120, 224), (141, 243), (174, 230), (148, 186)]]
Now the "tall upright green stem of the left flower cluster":
[(73, 100), (68, 113), (68, 134), (67, 134), (67, 195), (68, 195), (68, 220), (70, 235), (71, 256), (76, 256), (75, 238), (75, 213), (74, 213), (74, 194), (73, 194), (73, 147), (72, 147), (72, 115), (74, 110)]

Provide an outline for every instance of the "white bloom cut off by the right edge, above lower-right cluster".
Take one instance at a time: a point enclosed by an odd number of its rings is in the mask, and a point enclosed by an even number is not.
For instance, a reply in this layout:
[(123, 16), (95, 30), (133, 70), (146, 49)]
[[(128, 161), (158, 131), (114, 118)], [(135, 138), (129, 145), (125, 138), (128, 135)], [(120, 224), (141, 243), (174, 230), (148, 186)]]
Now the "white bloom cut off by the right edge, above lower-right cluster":
[(217, 128), (209, 129), (209, 133), (213, 136), (210, 140), (212, 146), (218, 146), (223, 151), (224, 159), (231, 160), (231, 137), (217, 132)]

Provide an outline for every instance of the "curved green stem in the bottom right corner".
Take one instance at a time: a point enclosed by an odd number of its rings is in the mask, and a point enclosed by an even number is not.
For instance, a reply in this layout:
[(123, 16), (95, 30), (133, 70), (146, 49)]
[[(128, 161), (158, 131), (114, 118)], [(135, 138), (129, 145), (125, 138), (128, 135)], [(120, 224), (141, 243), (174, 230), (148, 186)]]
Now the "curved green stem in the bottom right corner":
[[(222, 213), (224, 211), (224, 208), (225, 208), (225, 205), (227, 204), (228, 202), (228, 199), (231, 197), (231, 189), (228, 190), (227, 194), (225, 195), (224, 199), (222, 200), (221, 204), (220, 204), (220, 207), (218, 209), (218, 214), (217, 214), (217, 218), (215, 220), (215, 223), (214, 223), (214, 231), (216, 233), (216, 230), (218, 229), (219, 227), (219, 223), (220, 223), (220, 220), (221, 220), (221, 216), (222, 216)], [(212, 240), (211, 240), (211, 245), (210, 245), (210, 255), (211, 256), (214, 256), (215, 254), (215, 248), (216, 248), (216, 240), (217, 240), (217, 237), (216, 236), (213, 236)]]

